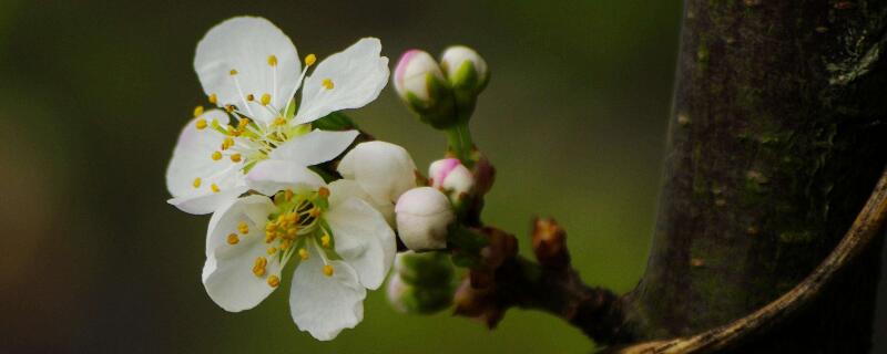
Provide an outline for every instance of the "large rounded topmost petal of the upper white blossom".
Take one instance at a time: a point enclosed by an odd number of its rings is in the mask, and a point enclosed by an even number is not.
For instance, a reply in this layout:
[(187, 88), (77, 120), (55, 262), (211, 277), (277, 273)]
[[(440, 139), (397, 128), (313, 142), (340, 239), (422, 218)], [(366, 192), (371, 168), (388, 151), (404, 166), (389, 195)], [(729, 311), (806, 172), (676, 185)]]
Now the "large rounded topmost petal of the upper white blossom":
[[(272, 55), (276, 65), (269, 63)], [(277, 112), (284, 110), (302, 63), (296, 46), (274, 23), (263, 18), (237, 17), (206, 32), (197, 43), (194, 70), (204, 93), (215, 94), (220, 107), (233, 104), (243, 112), (252, 110), (256, 119), (269, 122), (275, 114), (261, 106), (262, 95), (271, 95), (271, 105)], [(244, 95), (249, 94), (255, 101), (246, 108)]]

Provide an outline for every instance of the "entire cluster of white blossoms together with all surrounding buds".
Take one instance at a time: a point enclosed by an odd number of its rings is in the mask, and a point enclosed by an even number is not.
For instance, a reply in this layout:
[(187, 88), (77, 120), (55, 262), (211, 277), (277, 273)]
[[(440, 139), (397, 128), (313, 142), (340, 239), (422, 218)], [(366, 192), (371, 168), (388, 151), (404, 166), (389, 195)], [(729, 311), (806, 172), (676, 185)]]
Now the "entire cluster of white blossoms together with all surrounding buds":
[[(369, 104), (387, 84), (380, 53), (379, 40), (365, 38), (319, 62), (300, 58), (286, 34), (254, 17), (226, 20), (198, 42), (194, 70), (212, 107), (194, 108), (166, 185), (171, 205), (212, 214), (202, 279), (222, 309), (252, 309), (292, 279), (293, 321), (327, 341), (363, 320), (367, 290), (385, 281), (398, 238), (417, 252), (478, 252), (482, 242), (460, 223), (492, 184), (467, 125), (487, 64), (465, 46), (447, 50), (439, 65), (419, 51), (398, 64), (396, 90), (458, 153), (432, 163), (426, 179), (402, 147), (356, 144), (360, 132), (340, 124), (350, 122), (340, 111)], [(446, 253), (404, 254), (398, 264), (389, 292), (402, 309), (450, 304)]]

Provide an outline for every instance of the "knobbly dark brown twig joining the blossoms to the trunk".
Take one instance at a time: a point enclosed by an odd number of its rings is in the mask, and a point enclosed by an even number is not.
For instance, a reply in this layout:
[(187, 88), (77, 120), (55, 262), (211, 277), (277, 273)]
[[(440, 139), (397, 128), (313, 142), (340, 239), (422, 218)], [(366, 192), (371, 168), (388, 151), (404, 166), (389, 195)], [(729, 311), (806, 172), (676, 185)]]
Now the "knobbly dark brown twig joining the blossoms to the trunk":
[(517, 239), (496, 228), (478, 230), (490, 244), (456, 294), (456, 314), (495, 327), (513, 306), (551, 313), (598, 343), (624, 343), (622, 302), (612, 291), (585, 285), (570, 266), (567, 233), (553, 219), (537, 219), (532, 247), (539, 263), (517, 254)]

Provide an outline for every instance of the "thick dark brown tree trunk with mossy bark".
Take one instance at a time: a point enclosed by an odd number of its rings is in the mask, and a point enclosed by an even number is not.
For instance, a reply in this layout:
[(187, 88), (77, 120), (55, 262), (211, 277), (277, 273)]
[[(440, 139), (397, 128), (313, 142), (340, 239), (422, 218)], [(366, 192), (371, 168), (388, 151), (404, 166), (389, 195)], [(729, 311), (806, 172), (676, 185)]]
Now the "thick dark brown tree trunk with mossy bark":
[[(886, 1), (687, 0), (638, 340), (741, 317), (804, 279), (887, 163)], [(742, 352), (865, 352), (880, 248)]]

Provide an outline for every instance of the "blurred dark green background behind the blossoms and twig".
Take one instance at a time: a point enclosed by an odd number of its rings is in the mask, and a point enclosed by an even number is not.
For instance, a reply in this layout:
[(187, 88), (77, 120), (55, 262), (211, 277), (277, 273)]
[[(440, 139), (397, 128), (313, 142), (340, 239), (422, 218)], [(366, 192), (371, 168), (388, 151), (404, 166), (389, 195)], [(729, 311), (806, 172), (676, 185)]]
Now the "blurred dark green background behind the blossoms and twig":
[[(0, 1), (0, 332), (3, 352), (582, 353), (539, 312), (496, 331), (401, 315), (373, 292), (333, 342), (297, 331), (288, 282), (231, 314), (200, 281), (208, 217), (165, 200), (180, 129), (204, 97), (197, 40), (263, 15), (320, 59), (358, 38), (401, 52), (476, 48), (492, 81), (472, 121), (499, 170), (486, 220), (526, 251), (533, 216), (570, 232), (583, 278), (616, 291), (643, 272), (677, 49), (680, 1)], [(353, 112), (420, 166), (445, 139), (386, 88)], [(424, 168), (424, 167), (422, 167)]]

